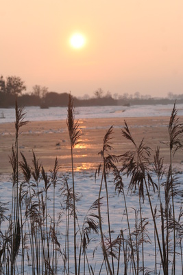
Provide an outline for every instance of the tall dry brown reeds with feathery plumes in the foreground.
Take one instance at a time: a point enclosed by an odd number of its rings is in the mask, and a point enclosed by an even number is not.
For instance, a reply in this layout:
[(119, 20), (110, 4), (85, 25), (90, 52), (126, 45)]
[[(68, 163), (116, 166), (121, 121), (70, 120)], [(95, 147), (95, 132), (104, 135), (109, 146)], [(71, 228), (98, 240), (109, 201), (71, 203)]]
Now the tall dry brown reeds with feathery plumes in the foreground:
[[(82, 136), (71, 94), (66, 118), (71, 180), (70, 173), (59, 172), (58, 158), (49, 171), (34, 151), (32, 164), (27, 163), (19, 151), (20, 129), (25, 124), (25, 112), (16, 102), (15, 142), (10, 155), (12, 202), (11, 206), (0, 203), (0, 274), (183, 274), (183, 210), (180, 203), (177, 214), (175, 199), (181, 198), (182, 190), (173, 170), (173, 155), (182, 148), (183, 126), (175, 104), (167, 132), (169, 166), (164, 165), (160, 147), (153, 152), (144, 138), (138, 144), (126, 122), (121, 136), (132, 149), (112, 154), (114, 129), (110, 126), (95, 173), (98, 196), (88, 210), (82, 207), (82, 216), (74, 164), (74, 148)], [(111, 192), (123, 213), (117, 232), (112, 224)], [(132, 197), (138, 201), (136, 208), (130, 206)], [(151, 218), (145, 216), (146, 207)], [(154, 269), (148, 266), (149, 245), (154, 246)], [(178, 260), (181, 267), (176, 264)]]

